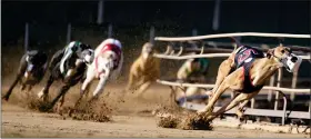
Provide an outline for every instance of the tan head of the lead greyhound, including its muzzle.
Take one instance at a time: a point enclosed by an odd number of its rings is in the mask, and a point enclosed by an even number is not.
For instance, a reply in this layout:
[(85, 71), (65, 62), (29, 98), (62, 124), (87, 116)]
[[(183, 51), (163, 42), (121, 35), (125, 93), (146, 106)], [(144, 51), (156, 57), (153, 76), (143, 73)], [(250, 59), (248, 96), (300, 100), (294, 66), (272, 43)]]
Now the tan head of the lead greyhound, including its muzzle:
[(289, 47), (283, 47), (283, 44), (280, 44), (274, 49), (270, 49), (267, 52), (267, 58), (274, 58), (278, 62), (281, 62), (289, 72), (298, 70), (302, 61), (299, 56), (292, 53), (292, 50)]

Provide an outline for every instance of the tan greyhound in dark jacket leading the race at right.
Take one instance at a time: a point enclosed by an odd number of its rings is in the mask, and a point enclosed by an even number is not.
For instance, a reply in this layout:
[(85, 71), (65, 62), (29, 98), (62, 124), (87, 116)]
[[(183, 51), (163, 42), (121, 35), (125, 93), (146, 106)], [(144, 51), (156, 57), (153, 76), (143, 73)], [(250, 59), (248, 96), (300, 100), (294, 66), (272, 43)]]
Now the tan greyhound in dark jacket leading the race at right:
[[(285, 67), (289, 72), (293, 72), (298, 70), (301, 60), (300, 57), (292, 53), (290, 48), (282, 44), (270, 49), (267, 56), (254, 48), (240, 46), (220, 64), (215, 87), (212, 89), (212, 98), (209, 100), (208, 106), (198, 112), (204, 115), (207, 120), (213, 120), (242, 102), (237, 111), (237, 115), (242, 117), (242, 108), (251, 98), (258, 95), (265, 81), (279, 68)], [(227, 89), (239, 91), (240, 95), (235, 96), (218, 111), (212, 112), (215, 101)]]

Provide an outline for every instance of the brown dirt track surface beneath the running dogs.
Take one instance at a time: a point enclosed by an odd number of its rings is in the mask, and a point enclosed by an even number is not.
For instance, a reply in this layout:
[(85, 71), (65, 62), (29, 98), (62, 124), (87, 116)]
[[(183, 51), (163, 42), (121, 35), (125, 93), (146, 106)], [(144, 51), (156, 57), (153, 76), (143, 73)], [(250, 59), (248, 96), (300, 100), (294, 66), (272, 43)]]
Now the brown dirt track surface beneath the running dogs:
[[(215, 127), (213, 131), (164, 129), (157, 127), (157, 119), (150, 113), (160, 102), (165, 103), (168, 88), (153, 86), (141, 99), (117, 101), (122, 95), (123, 86), (109, 86), (106, 101), (114, 106), (111, 122), (78, 121), (62, 119), (57, 113), (42, 113), (24, 109), (17, 105), (20, 96), (13, 92), (10, 102), (2, 102), (2, 137), (207, 137), (207, 138), (303, 138), (308, 135), (271, 133), (255, 130), (241, 130)], [(2, 85), (2, 93), (8, 88)], [(36, 88), (34, 92), (41, 88)], [(51, 92), (56, 89), (52, 88)], [(77, 99), (77, 88), (68, 93), (66, 105), (72, 105)], [(106, 92), (107, 93), (107, 92)], [(19, 96), (19, 97), (18, 97)], [(117, 96), (117, 97), (116, 97)], [(118, 111), (117, 107), (118, 106)]]

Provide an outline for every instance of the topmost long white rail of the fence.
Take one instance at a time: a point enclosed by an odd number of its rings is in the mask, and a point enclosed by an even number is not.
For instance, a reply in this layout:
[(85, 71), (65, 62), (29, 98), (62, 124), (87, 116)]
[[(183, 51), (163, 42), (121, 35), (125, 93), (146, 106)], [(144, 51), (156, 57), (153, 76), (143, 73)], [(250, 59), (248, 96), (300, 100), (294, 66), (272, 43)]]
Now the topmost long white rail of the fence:
[(189, 41), (189, 40), (203, 40), (213, 38), (228, 38), (228, 37), (272, 37), (272, 38), (311, 38), (310, 34), (291, 34), (291, 33), (262, 33), (262, 32), (238, 32), (238, 33), (219, 33), (197, 37), (156, 37), (154, 40), (159, 41)]

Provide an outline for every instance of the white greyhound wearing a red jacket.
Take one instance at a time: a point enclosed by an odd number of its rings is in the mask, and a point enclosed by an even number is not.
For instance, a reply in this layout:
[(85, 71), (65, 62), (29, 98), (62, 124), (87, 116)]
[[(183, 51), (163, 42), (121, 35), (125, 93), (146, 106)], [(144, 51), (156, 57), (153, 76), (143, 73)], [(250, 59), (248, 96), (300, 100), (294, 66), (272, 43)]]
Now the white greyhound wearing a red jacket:
[[(106, 39), (94, 50), (94, 59), (91, 64), (88, 66), (87, 78), (80, 90), (80, 98), (76, 102), (79, 105), (86, 91), (89, 91), (89, 87), (94, 79), (99, 80), (96, 90), (92, 93), (93, 99), (98, 99), (103, 92), (103, 87), (109, 80), (116, 80), (122, 69), (123, 53), (121, 42), (117, 39)], [(76, 107), (74, 106), (74, 107)]]

